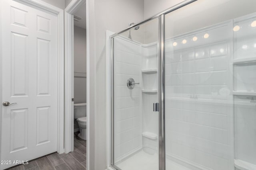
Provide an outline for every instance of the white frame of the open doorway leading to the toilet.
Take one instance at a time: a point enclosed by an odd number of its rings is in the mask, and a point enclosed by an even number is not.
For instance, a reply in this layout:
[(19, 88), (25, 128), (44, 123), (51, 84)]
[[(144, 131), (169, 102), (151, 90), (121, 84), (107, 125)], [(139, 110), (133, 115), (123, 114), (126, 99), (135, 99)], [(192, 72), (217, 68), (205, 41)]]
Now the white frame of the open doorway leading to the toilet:
[[(89, 62), (89, 0), (72, 0), (64, 10), (64, 28), (65, 28), (65, 134), (64, 134), (64, 150), (65, 153), (74, 150), (74, 103), (72, 98), (74, 98), (73, 84), (74, 84), (74, 16), (73, 14), (80, 8), (80, 6), (86, 4), (86, 146), (90, 146), (90, 62)], [(71, 57), (70, 57), (71, 56)], [(71, 120), (71, 121), (70, 121)], [(90, 168), (89, 154), (90, 148), (86, 147), (86, 168)]]

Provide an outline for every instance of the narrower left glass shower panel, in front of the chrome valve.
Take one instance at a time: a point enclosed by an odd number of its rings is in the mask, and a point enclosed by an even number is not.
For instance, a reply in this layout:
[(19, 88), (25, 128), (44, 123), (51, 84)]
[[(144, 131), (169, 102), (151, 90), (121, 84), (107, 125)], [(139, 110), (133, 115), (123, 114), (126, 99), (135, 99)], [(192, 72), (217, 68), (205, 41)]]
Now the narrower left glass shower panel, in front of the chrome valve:
[(158, 19), (114, 37), (113, 142), (118, 168), (158, 170), (159, 114), (153, 111), (154, 103), (158, 103)]

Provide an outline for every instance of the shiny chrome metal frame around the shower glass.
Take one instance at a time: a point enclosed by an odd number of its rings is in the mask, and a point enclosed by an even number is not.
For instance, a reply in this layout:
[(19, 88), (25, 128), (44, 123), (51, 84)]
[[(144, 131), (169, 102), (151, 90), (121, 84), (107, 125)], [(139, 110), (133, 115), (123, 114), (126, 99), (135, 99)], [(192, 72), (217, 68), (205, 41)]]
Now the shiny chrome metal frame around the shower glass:
[(111, 68), (111, 92), (110, 92), (110, 102), (111, 102), (111, 132), (110, 132), (110, 150), (111, 150), (111, 156), (110, 156), (110, 166), (116, 170), (121, 170), (117, 166), (114, 165), (114, 37), (117, 35), (120, 35), (126, 31), (129, 31), (130, 29), (133, 29), (135, 27), (138, 27), (141, 24), (144, 24), (148, 21), (152, 21), (156, 18), (158, 18), (158, 66), (159, 66), (159, 84), (158, 84), (158, 90), (159, 90), (159, 170), (165, 170), (165, 94), (164, 94), (164, 64), (165, 64), (165, 56), (164, 56), (164, 45), (165, 45), (165, 14), (168, 14), (170, 12), (173, 12), (175, 10), (178, 10), (179, 8), (182, 8), (188, 4), (191, 4), (192, 2), (195, 2), (197, 0), (185, 0), (184, 2), (181, 2), (180, 4), (177, 4), (176, 6), (173, 6), (167, 10), (164, 10), (163, 12), (160, 12), (146, 20), (143, 20), (141, 22), (138, 22), (134, 25), (131, 25), (130, 27), (115, 33), (110, 36), (110, 49), (111, 49), (111, 61), (110, 61), (110, 68)]

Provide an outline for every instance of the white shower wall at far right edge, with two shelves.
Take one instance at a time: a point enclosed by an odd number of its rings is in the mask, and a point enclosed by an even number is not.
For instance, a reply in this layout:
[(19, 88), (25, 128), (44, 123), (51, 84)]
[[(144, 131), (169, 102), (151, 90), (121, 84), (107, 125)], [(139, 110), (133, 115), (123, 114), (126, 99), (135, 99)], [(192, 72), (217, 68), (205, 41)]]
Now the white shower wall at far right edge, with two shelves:
[[(256, 14), (234, 20), (240, 30), (234, 32), (234, 91), (256, 92)], [(248, 61), (250, 59), (250, 61)], [(252, 92), (252, 93), (250, 93)], [(243, 94), (244, 95), (244, 94)], [(256, 96), (234, 96), (235, 159), (256, 165)]]

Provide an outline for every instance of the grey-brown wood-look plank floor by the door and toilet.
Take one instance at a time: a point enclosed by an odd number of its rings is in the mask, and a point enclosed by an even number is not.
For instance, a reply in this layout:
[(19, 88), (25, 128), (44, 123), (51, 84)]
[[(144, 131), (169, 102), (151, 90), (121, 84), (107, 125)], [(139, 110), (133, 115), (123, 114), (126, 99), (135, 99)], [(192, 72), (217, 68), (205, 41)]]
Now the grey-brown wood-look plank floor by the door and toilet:
[(8, 170), (86, 170), (86, 141), (75, 134), (74, 152), (54, 152), (31, 160), (27, 165), (18, 165)]

